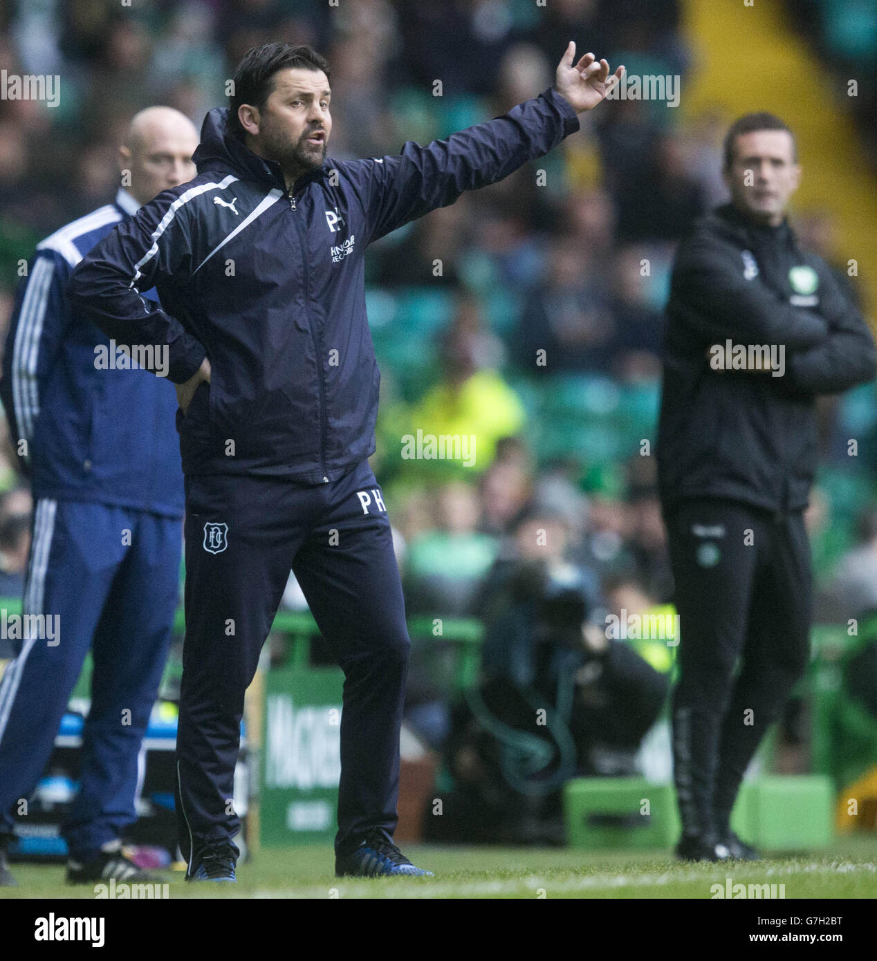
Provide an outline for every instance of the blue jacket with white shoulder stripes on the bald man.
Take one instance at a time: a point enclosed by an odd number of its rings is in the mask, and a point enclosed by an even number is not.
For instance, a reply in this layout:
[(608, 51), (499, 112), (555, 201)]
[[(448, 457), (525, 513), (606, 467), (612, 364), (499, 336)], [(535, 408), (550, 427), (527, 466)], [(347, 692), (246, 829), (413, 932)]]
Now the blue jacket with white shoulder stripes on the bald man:
[(173, 384), (119, 369), (107, 337), (65, 296), (73, 268), (137, 208), (119, 190), (115, 203), (38, 244), (15, 296), (0, 398), (35, 498), (181, 517), (179, 444), (169, 427)]

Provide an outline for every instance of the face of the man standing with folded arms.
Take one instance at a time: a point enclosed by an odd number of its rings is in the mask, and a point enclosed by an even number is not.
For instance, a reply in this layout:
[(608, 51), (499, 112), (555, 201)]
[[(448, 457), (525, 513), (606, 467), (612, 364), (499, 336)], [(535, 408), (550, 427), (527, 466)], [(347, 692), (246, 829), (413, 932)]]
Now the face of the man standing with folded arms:
[(789, 198), (801, 180), (794, 160), (794, 143), (785, 130), (740, 134), (734, 162), (724, 172), (734, 206), (757, 223), (776, 227), (783, 222)]

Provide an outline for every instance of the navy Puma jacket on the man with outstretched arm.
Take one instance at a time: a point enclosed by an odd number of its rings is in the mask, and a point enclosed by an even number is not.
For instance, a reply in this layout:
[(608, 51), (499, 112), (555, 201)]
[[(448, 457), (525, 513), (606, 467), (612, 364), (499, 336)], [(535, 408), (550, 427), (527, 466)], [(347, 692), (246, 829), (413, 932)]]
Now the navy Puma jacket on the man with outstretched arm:
[[(69, 296), (118, 343), (166, 347), (173, 382), (210, 358), (210, 384), (176, 415), (186, 474), (338, 480), (375, 450), (365, 248), (548, 153), (579, 120), (550, 87), (426, 147), (326, 158), (289, 191), (227, 119), (227, 109), (207, 114), (198, 176), (108, 234)], [(153, 284), (161, 308), (139, 296)]]

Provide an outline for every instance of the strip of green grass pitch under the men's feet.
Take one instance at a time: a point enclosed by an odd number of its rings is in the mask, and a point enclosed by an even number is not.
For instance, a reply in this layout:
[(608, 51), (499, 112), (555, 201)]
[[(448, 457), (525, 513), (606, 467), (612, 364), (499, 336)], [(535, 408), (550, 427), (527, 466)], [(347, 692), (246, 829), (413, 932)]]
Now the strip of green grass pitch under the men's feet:
[[(330, 848), (262, 850), (238, 865), (237, 885), (188, 884), (166, 872), (168, 896), (181, 898), (693, 898), (711, 886), (785, 884), (786, 898), (877, 897), (877, 837), (836, 841), (829, 850), (772, 854), (756, 863), (682, 864), (662, 851), (406, 847), (427, 878), (350, 880), (333, 874)], [(68, 887), (63, 866), (15, 864), (19, 887), (0, 899), (93, 899)]]

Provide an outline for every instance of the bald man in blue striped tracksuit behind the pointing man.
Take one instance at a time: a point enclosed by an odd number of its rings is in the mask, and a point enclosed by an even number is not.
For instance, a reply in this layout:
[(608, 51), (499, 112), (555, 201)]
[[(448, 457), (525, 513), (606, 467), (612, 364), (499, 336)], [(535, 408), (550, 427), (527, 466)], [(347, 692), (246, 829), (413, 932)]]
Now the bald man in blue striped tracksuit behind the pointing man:
[[(26, 814), (89, 648), (80, 788), (63, 831), (67, 879), (139, 876), (120, 835), (136, 819), (140, 742), (179, 594), (176, 396), (117, 356), (64, 290), (113, 227), (192, 176), (196, 144), (182, 113), (138, 113), (119, 151), (130, 189), (43, 240), (15, 299), (0, 395), (35, 499), (23, 613), (58, 630), (19, 639), (0, 683), (0, 884), (13, 883), (5, 865), (13, 814)], [(148, 286), (143, 303), (156, 308)]]

